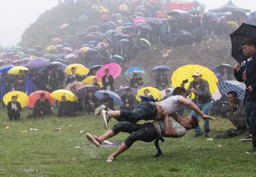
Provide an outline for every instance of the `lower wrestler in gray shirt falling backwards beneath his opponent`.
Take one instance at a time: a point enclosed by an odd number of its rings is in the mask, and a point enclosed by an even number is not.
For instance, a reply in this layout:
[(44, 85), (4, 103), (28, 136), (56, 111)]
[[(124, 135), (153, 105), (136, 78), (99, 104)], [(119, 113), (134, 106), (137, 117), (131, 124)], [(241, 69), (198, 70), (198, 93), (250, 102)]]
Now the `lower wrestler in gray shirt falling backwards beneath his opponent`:
[(130, 148), (137, 140), (151, 142), (160, 137), (183, 137), (187, 130), (198, 126), (198, 120), (192, 116), (183, 119), (175, 114), (174, 118), (177, 121), (176, 123), (169, 120), (166, 110), (163, 110), (162, 115), (164, 120), (154, 120), (151, 123), (136, 124), (119, 122), (100, 137), (87, 133), (86, 138), (93, 143), (93, 145), (99, 147), (104, 140), (108, 140), (119, 132), (129, 133), (130, 135), (125, 139), (122, 145), (108, 157), (107, 162), (113, 162), (119, 154)]

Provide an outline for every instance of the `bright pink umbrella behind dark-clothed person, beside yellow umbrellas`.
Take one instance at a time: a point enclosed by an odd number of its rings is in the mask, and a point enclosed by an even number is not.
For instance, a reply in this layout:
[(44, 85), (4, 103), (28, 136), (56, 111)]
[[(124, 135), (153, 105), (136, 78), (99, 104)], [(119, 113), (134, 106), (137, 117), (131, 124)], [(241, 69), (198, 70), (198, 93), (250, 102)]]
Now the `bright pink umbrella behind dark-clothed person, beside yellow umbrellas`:
[(116, 63), (109, 63), (107, 65), (103, 65), (96, 73), (96, 78), (99, 82), (102, 82), (102, 77), (105, 75), (105, 69), (109, 70), (109, 74), (113, 76), (114, 79), (119, 77), (122, 72), (121, 66)]

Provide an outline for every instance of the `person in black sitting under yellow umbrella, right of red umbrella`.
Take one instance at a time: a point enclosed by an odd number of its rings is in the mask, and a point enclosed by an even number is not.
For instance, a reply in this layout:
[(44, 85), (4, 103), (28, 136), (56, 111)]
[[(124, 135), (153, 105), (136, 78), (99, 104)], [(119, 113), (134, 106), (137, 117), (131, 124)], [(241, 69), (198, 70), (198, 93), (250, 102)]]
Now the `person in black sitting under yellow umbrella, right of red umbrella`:
[(65, 96), (61, 97), (60, 107), (58, 108), (58, 117), (75, 116), (74, 104), (68, 101)]

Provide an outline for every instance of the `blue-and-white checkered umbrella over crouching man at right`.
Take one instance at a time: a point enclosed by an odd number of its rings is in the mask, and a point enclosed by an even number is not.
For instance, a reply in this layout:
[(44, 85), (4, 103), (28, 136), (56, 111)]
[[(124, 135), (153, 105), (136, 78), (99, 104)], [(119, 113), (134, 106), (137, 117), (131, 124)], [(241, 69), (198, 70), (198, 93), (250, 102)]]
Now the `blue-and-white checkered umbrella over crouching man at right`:
[(244, 83), (240, 83), (236, 80), (224, 80), (217, 83), (218, 89), (222, 91), (226, 96), (229, 91), (236, 91), (239, 100), (244, 99), (246, 86)]

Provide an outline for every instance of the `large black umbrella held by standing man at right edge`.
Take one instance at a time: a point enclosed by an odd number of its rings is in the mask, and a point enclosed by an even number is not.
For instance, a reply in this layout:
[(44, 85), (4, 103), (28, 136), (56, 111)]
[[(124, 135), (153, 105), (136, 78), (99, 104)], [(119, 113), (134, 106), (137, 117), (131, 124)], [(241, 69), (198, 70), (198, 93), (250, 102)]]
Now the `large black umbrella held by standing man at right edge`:
[(231, 56), (235, 58), (238, 63), (241, 63), (247, 60), (247, 56), (244, 56), (242, 51), (242, 43), (247, 38), (256, 40), (256, 26), (243, 23), (236, 31), (230, 34), (230, 38), (232, 44)]

